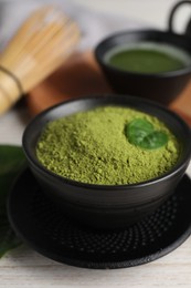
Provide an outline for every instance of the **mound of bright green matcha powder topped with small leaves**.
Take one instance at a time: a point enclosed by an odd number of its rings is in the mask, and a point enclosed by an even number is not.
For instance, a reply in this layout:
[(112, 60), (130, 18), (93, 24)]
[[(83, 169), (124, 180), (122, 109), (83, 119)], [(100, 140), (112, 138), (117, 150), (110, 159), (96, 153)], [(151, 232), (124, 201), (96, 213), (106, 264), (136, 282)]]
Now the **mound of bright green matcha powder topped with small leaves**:
[(36, 156), (57, 175), (88, 184), (124, 185), (158, 177), (180, 154), (176, 136), (137, 110), (100, 106), (47, 123)]

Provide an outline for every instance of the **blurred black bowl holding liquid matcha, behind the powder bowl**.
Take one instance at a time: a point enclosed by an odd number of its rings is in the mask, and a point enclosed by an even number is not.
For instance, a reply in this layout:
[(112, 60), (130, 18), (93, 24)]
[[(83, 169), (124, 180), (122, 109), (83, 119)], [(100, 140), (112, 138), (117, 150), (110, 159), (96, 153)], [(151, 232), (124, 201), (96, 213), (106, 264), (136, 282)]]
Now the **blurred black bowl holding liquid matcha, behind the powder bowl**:
[(136, 30), (118, 32), (104, 39), (95, 49), (95, 58), (116, 93), (146, 97), (168, 105), (191, 79), (191, 63), (177, 71), (146, 74), (123, 71), (105, 60), (106, 53), (112, 49), (140, 42), (171, 45), (185, 51), (191, 56), (191, 40), (185, 35), (169, 31)]

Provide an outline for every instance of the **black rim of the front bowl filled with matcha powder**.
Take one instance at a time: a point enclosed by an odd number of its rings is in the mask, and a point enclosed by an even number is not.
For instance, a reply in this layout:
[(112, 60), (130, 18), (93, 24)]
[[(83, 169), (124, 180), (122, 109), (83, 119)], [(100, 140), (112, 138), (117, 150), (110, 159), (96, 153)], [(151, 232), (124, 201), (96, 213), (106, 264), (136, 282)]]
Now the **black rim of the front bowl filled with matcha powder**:
[[(33, 155), (31, 153), (31, 147), (28, 145), (29, 142), (26, 141), (26, 138), (28, 138), (28, 136), (30, 136), (30, 130), (33, 126), (36, 125), (39, 120), (43, 119), (45, 115), (49, 115), (50, 112), (52, 112), (52, 111), (54, 111), (54, 110), (56, 110), (61, 106), (65, 106), (67, 104), (76, 103), (78, 101), (83, 102), (83, 101), (86, 101), (86, 100), (87, 101), (100, 100), (100, 101), (104, 102), (104, 100), (105, 101), (110, 100), (108, 102), (108, 104), (109, 103), (112, 104), (113, 103), (112, 100), (114, 100), (114, 99), (116, 100), (116, 99), (119, 99), (119, 97), (124, 99), (124, 100), (136, 101), (136, 102), (141, 101), (141, 102), (144, 102), (144, 104), (153, 106), (157, 110), (165, 112), (169, 116), (176, 119), (180, 123), (180, 125), (183, 127), (183, 130), (185, 131), (185, 134), (190, 135), (190, 137), (187, 141), (187, 151), (185, 151), (184, 157), (182, 157), (182, 160), (179, 161), (171, 169), (169, 169), (168, 172), (166, 172), (165, 174), (162, 174), (158, 177), (153, 177), (151, 179), (135, 183), (135, 184), (123, 184), (123, 185), (89, 184), (89, 183), (78, 182), (78, 181), (70, 179), (70, 178), (66, 178), (64, 176), (57, 175), (56, 173), (54, 173), (54, 172), (47, 169), (45, 166), (43, 166), (38, 161), (36, 157), (33, 157)], [(75, 112), (75, 113), (77, 113), (77, 112)], [(145, 113), (147, 113), (147, 112), (145, 112)], [(30, 123), (26, 125), (26, 127), (23, 132), (23, 135), (22, 135), (22, 148), (23, 148), (23, 152), (25, 154), (25, 157), (28, 158), (30, 165), (35, 167), (35, 171), (38, 171), (38, 173), (43, 173), (44, 175), (49, 175), (50, 177), (56, 178), (60, 182), (64, 182), (67, 185), (86, 187), (86, 188), (92, 188), (92, 189), (98, 189), (98, 188), (99, 189), (102, 189), (102, 188), (104, 188), (104, 189), (110, 189), (110, 188), (113, 188), (113, 189), (127, 189), (128, 187), (130, 187), (131, 189), (137, 188), (137, 187), (141, 188), (141, 187), (145, 187), (145, 186), (149, 186), (151, 184), (162, 182), (162, 181), (168, 179), (172, 176), (176, 176), (176, 174), (179, 173), (179, 171), (182, 168), (182, 166), (184, 166), (187, 164), (187, 162), (188, 162), (188, 165), (189, 165), (189, 162), (190, 162), (190, 158), (191, 158), (191, 148), (189, 150), (189, 147), (191, 147), (191, 131), (190, 131), (190, 127), (177, 113), (174, 113), (171, 110), (168, 110), (167, 107), (162, 106), (159, 103), (156, 103), (156, 102), (147, 100), (147, 99), (131, 96), (131, 95), (118, 95), (118, 94), (105, 94), (105, 95), (100, 94), (100, 95), (91, 95), (91, 96), (86, 95), (86, 96), (81, 96), (81, 97), (77, 97), (77, 99), (72, 99), (72, 100), (67, 100), (67, 101), (61, 102), (59, 104), (55, 104), (55, 105), (42, 111), (36, 116), (34, 116), (30, 121)]]

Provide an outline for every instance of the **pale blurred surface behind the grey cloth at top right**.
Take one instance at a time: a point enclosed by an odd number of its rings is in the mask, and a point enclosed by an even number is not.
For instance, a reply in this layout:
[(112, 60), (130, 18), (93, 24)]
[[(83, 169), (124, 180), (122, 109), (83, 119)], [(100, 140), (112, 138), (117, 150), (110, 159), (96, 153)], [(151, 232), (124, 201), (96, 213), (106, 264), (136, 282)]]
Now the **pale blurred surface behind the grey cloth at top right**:
[[(115, 13), (137, 21), (146, 22), (161, 29), (167, 28), (170, 9), (177, 0), (74, 0), (83, 7), (99, 12)], [(182, 31), (187, 19), (191, 16), (191, 6), (183, 6), (177, 16), (177, 31)]]

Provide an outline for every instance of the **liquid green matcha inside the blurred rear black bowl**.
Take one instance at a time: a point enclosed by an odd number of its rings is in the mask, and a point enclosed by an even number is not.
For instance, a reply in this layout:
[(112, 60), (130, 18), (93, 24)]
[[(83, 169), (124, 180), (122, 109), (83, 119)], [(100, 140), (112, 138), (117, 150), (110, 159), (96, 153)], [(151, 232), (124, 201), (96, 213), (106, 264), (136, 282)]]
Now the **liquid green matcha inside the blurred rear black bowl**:
[(106, 53), (105, 61), (120, 70), (136, 73), (162, 73), (191, 64), (191, 58), (184, 51), (152, 42), (114, 48)]

